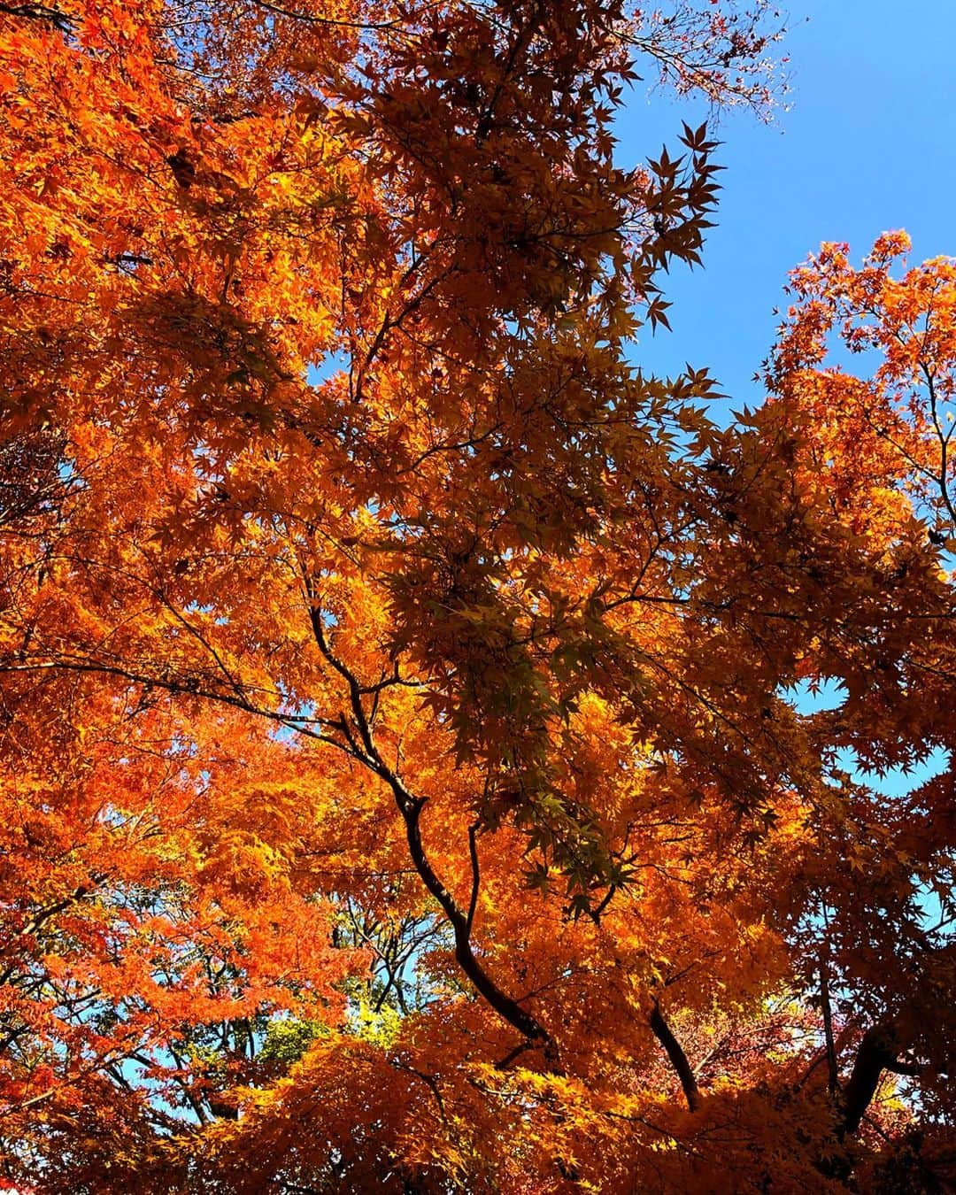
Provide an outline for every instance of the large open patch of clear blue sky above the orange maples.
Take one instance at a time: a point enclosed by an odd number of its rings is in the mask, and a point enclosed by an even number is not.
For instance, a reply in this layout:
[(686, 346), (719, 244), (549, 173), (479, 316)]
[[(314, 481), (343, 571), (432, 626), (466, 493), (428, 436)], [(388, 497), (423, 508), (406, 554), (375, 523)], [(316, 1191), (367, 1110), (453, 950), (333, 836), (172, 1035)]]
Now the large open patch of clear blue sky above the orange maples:
[[(792, 0), (789, 111), (762, 125), (721, 120), (724, 190), (704, 269), (675, 268), (673, 335), (648, 330), (635, 360), (661, 372), (706, 364), (737, 410), (770, 349), (788, 270), (822, 240), (856, 258), (906, 228), (912, 259), (956, 256), (956, 0)], [(807, 19), (809, 18), (809, 19)], [(626, 165), (678, 148), (706, 108), (635, 91), (619, 122)]]

